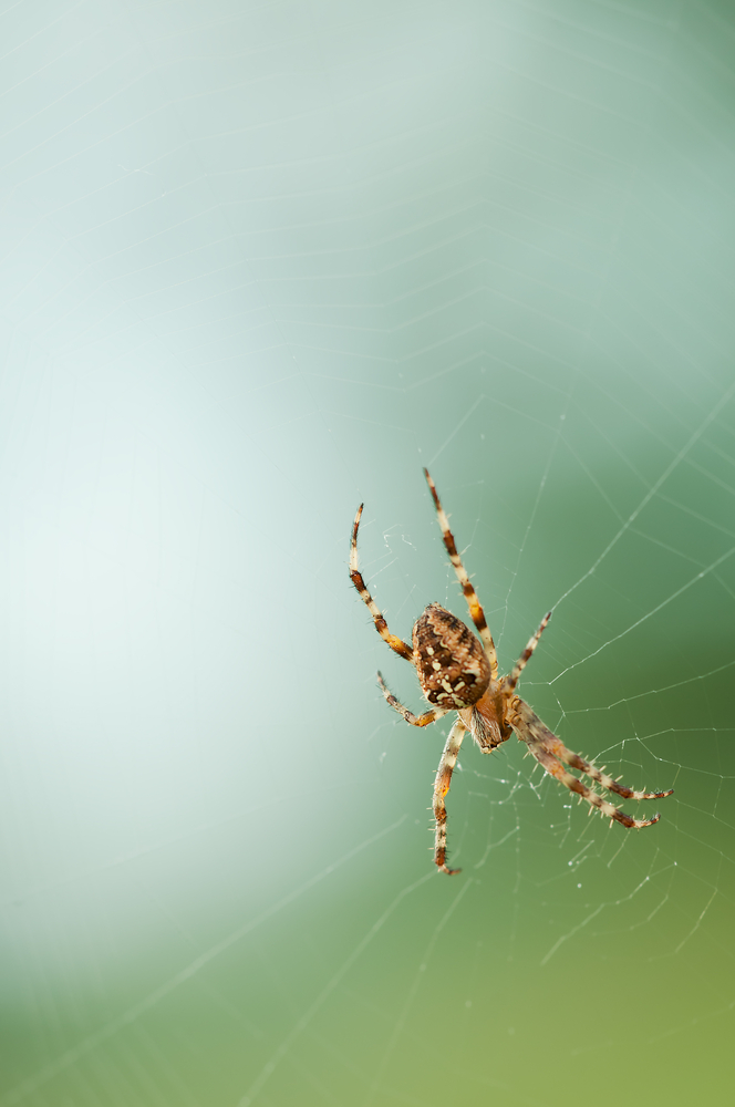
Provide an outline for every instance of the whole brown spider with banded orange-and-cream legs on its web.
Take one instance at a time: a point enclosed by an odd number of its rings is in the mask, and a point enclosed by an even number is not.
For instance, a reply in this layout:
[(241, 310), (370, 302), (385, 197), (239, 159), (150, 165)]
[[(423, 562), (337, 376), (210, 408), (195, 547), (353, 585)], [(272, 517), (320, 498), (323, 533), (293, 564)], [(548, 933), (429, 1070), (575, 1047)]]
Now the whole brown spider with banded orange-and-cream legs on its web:
[(518, 679), (551, 618), (550, 611), (541, 620), (541, 625), (508, 675), (498, 676), (497, 653), (493, 635), (485, 620), (485, 613), (462, 563), (462, 558), (457, 554), (449, 523), (444, 514), (434, 482), (428, 475), (428, 469), (424, 469), (424, 476), (434, 499), (444, 545), (465, 593), (469, 614), (479, 634), (482, 645), (462, 620), (443, 608), (441, 603), (429, 603), (417, 619), (413, 629), (413, 646), (396, 638), (395, 634), (391, 634), (359, 568), (358, 528), (363, 504), (358, 508), (352, 527), (350, 579), (358, 589), (360, 598), (368, 606), (377, 633), (384, 642), (387, 642), (394, 653), (414, 665), (418, 673), (421, 690), (429, 704), (433, 705), (431, 711), (424, 712), (423, 715), (414, 715), (402, 703), (398, 703), (379, 673), (377, 683), (391, 707), (403, 715), (412, 726), (427, 726), (451, 711), (456, 712), (456, 718), (446, 739), (434, 780), (433, 810), (436, 824), (434, 862), (439, 871), (447, 872), (449, 876), (460, 871), (459, 869), (449, 869), (446, 863), (446, 807), (444, 799), (449, 790), (452, 773), (467, 731), (472, 732), (473, 738), (484, 754), (493, 753), (495, 747), (499, 746), (501, 742), (506, 742), (515, 731), (518, 738), (526, 743), (536, 761), (544, 766), (550, 776), (559, 784), (563, 784), (570, 792), (576, 793), (580, 799), (590, 804), (590, 814), (592, 808), (597, 807), (603, 817), (614, 819), (615, 823), (620, 823), (624, 827), (635, 827), (636, 829), (658, 823), (661, 818), (660, 814), (650, 819), (634, 819), (630, 815), (625, 815), (603, 796), (589, 788), (573, 773), (568, 772), (565, 766), (576, 768), (591, 780), (596, 780), (607, 792), (612, 792), (624, 799), (663, 799), (664, 796), (672, 795), (673, 788), (669, 792), (634, 792), (632, 788), (623, 787), (602, 769), (584, 761), (579, 754), (572, 753), (571, 749), (567, 749), (528, 704), (516, 695)]

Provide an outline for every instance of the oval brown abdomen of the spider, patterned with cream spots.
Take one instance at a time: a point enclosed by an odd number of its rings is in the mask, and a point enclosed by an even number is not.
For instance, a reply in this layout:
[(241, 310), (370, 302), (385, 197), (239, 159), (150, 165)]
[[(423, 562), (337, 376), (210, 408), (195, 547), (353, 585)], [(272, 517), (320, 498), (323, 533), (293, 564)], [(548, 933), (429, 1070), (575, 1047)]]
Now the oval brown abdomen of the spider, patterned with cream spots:
[(490, 683), (490, 666), (478, 640), (441, 603), (429, 603), (416, 620), (413, 652), (422, 691), (439, 707), (469, 707)]

